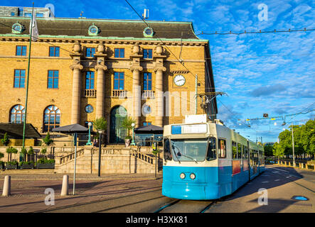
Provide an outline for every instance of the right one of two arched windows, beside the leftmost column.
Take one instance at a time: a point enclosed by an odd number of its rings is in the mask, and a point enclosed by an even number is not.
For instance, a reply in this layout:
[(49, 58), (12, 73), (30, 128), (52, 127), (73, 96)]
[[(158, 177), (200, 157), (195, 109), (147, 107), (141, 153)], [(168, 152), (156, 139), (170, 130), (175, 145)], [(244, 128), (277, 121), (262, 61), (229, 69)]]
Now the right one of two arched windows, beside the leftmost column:
[(43, 131), (51, 131), (60, 126), (60, 109), (57, 106), (48, 106), (44, 111)]

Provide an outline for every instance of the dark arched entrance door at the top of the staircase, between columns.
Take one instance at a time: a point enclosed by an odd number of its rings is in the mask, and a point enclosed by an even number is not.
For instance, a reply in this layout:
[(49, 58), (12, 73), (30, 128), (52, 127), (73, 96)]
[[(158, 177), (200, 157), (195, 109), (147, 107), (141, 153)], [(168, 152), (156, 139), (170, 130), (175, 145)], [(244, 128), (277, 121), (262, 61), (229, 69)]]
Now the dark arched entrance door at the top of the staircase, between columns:
[(127, 117), (123, 106), (116, 106), (110, 112), (110, 143), (124, 143), (127, 130), (122, 128), (122, 122)]

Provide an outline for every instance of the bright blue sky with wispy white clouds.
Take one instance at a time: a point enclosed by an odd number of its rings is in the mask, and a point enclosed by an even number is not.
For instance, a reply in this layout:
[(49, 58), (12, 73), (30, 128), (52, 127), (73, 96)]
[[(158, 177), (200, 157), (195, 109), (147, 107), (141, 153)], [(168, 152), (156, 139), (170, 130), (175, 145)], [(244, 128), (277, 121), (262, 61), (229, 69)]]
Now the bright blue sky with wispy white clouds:
[[(124, 0), (119, 1), (7, 1), (1, 6), (55, 6), (56, 17), (138, 20)], [(284, 31), (315, 28), (314, 0), (208, 1), (129, 0), (149, 20), (191, 21), (196, 34), (233, 31)], [(315, 118), (315, 31), (242, 35), (198, 35), (209, 40), (218, 96), (218, 116), (246, 138), (265, 142), (293, 121)], [(287, 116), (297, 113), (294, 116)], [(283, 116), (276, 120), (262, 118)], [(282, 126), (283, 122), (286, 122)], [(250, 126), (250, 127), (249, 127)]]

